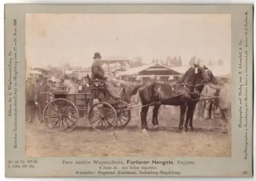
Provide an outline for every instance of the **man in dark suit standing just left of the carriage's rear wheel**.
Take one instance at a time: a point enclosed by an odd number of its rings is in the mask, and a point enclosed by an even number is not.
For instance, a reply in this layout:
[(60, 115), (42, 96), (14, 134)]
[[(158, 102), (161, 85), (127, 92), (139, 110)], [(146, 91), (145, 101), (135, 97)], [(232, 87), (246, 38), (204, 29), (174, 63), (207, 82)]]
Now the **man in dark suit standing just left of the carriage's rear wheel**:
[(47, 78), (41, 78), (39, 87), (35, 94), (35, 104), (38, 105), (38, 118), (40, 123), (42, 123), (42, 111), (44, 111), (46, 104), (50, 100), (49, 91), (50, 86), (47, 83)]

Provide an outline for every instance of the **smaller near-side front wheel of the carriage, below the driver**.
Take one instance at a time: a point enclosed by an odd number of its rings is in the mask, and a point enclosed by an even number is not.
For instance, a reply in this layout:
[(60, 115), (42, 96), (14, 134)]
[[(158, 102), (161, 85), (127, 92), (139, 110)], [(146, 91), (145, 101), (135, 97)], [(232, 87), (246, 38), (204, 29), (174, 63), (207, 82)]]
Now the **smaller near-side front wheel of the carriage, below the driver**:
[(115, 108), (106, 102), (99, 102), (89, 110), (88, 119), (94, 130), (112, 129), (117, 122)]

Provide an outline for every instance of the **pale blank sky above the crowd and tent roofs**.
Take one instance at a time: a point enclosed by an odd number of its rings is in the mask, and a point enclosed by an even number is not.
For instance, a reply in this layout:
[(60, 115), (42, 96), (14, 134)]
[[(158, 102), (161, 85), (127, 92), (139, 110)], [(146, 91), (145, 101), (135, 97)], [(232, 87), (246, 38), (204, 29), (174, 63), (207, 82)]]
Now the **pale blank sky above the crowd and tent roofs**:
[[(231, 66), (230, 14), (27, 14), (26, 59), (32, 67), (88, 67), (93, 55), (146, 63), (181, 56)], [(231, 69), (231, 68), (230, 68)]]

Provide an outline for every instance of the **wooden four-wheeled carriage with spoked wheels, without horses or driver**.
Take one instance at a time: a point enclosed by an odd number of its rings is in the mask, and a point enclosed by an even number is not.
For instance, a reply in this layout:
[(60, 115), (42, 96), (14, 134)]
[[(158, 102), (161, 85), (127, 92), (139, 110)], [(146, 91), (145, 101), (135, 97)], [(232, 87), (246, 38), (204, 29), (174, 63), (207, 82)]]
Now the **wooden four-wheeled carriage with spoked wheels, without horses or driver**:
[(95, 79), (90, 83), (90, 89), (89, 94), (67, 94), (66, 86), (51, 89), (54, 98), (43, 111), (44, 123), (52, 130), (66, 132), (73, 130), (81, 118), (88, 118), (94, 130), (125, 127), (130, 122), (131, 110), (122, 96), (117, 100), (99, 101), (89, 106), (90, 101), (98, 99), (95, 95), (105, 92), (103, 80)]

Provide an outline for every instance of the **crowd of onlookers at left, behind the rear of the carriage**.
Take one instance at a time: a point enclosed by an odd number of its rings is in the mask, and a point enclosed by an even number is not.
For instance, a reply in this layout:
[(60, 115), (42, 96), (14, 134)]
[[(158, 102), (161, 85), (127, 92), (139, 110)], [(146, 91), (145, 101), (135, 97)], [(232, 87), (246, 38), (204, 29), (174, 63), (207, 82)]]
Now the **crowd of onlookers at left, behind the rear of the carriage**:
[(71, 77), (68, 80), (39, 76), (36, 80), (28, 78), (26, 81), (26, 121), (37, 120), (42, 122), (42, 112), (49, 101), (54, 99), (52, 91), (64, 88), (67, 94), (90, 93), (86, 79)]

